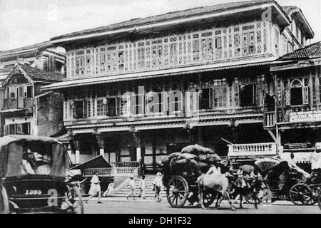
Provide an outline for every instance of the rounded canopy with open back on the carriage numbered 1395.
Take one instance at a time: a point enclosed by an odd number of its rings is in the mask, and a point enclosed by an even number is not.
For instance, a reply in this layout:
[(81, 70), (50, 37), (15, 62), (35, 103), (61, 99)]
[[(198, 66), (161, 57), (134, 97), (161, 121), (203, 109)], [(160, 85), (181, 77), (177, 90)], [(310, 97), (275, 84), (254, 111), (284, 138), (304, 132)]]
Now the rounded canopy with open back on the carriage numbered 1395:
[(54, 138), (7, 135), (0, 138), (0, 177), (65, 177), (65, 152)]

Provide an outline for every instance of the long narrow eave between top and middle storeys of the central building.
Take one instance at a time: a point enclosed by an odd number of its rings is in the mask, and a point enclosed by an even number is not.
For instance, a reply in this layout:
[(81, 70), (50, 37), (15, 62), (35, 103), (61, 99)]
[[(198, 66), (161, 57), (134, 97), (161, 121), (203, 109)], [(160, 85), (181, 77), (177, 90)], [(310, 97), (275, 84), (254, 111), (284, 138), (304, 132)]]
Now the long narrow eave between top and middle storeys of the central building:
[(225, 61), (224, 63), (216, 63), (210, 65), (202, 66), (189, 66), (181, 68), (171, 68), (160, 71), (146, 71), (139, 73), (123, 73), (120, 75), (114, 76), (100, 76), (100, 77), (91, 77), (83, 78), (78, 80), (68, 80), (61, 83), (54, 83), (48, 86), (41, 87), (41, 90), (59, 90), (62, 88), (72, 88), (77, 86), (91, 86), (98, 85), (103, 83), (114, 83), (120, 81), (132, 81), (139, 79), (148, 79), (148, 78), (160, 78), (165, 76), (175, 76), (183, 75), (188, 73), (200, 73), (207, 71), (220, 71), (233, 68), (245, 68), (250, 66), (265, 66), (269, 65), (271, 61), (274, 61), (275, 57), (270, 58), (255, 58), (248, 61)]

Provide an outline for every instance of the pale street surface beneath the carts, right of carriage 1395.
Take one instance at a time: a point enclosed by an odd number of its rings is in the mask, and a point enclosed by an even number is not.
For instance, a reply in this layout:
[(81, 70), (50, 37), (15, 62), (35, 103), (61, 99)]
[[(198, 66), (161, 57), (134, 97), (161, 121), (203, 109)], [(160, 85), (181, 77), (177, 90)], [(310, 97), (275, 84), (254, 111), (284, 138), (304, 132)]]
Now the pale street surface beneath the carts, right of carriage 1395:
[(84, 203), (85, 214), (321, 214), (321, 210), (315, 206), (295, 206), (291, 202), (275, 202), (270, 206), (259, 205), (258, 209), (254, 205), (243, 204), (244, 209), (239, 208), (239, 204), (234, 204), (236, 212), (230, 210), (229, 204), (222, 202), (222, 209), (215, 209), (212, 204), (208, 209), (203, 210), (200, 207), (188, 206), (176, 209), (170, 207), (170, 204), (163, 199), (163, 202), (157, 203), (151, 200), (142, 201), (138, 199), (103, 199), (103, 204), (97, 204), (93, 199), (88, 204)]

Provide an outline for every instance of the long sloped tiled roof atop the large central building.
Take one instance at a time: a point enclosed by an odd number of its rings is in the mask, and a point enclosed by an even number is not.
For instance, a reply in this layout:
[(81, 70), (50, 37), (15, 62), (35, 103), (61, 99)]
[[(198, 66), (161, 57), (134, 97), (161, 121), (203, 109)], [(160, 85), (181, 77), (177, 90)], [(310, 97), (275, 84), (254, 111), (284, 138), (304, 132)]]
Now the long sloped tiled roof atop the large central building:
[(74, 33), (68, 33), (61, 36), (56, 36), (54, 38), (51, 38), (51, 41), (54, 41), (56, 39), (60, 38), (70, 38), (73, 36), (83, 36), (91, 33), (99, 33), (99, 32), (106, 32), (106, 31), (114, 31), (122, 28), (131, 28), (133, 26), (141, 26), (141, 25), (148, 25), (148, 24), (156, 24), (159, 22), (164, 21), (171, 21), (174, 19), (185, 19), (189, 18), (191, 16), (200, 16), (204, 14), (213, 14), (218, 13), (222, 11), (227, 10), (233, 10), (233, 9), (242, 9), (250, 6), (257, 6), (261, 4), (269, 4), (269, 3), (275, 3), (273, 0), (252, 0), (252, 1), (240, 1), (240, 2), (232, 2), (228, 4), (218, 4), (215, 6), (205, 6), (205, 7), (198, 7), (193, 9), (188, 9), (184, 11), (175, 11), (170, 12), (168, 14), (161, 14), (157, 16), (149, 16), (146, 18), (139, 18), (139, 19), (132, 19), (130, 21), (124, 21), (118, 24), (111, 24), (109, 26), (101, 26), (98, 28), (92, 28), (87, 29), (83, 31), (78, 31)]

